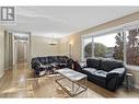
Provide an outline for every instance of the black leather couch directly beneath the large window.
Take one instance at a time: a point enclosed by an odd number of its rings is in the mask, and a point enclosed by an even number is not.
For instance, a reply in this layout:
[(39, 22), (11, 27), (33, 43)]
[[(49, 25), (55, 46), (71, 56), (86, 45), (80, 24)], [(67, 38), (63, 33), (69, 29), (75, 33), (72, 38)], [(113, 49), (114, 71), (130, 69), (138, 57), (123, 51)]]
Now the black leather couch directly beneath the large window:
[(115, 91), (121, 85), (126, 73), (121, 61), (102, 58), (86, 59), (83, 68), (76, 63), (74, 70), (88, 74), (89, 81), (111, 91)]

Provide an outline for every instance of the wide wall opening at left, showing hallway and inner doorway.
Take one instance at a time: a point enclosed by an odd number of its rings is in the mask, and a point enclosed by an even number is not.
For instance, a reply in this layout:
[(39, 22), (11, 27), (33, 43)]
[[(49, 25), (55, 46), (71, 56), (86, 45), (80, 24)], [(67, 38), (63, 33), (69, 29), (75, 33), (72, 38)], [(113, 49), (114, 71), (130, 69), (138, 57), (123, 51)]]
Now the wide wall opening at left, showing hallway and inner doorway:
[(4, 32), (4, 69), (12, 69), (16, 63), (30, 66), (31, 34), (25, 32)]

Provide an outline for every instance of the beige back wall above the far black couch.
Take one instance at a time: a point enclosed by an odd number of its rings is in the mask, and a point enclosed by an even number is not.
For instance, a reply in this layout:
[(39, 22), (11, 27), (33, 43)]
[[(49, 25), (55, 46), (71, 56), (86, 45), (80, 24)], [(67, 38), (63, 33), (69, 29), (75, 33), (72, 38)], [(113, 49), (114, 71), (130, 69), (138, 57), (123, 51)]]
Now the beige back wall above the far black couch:
[(59, 55), (59, 48), (58, 48), (59, 39), (56, 39), (58, 41), (58, 45), (55, 46), (49, 45), (48, 44), (49, 41), (51, 41), (51, 38), (32, 35), (31, 38), (32, 57)]

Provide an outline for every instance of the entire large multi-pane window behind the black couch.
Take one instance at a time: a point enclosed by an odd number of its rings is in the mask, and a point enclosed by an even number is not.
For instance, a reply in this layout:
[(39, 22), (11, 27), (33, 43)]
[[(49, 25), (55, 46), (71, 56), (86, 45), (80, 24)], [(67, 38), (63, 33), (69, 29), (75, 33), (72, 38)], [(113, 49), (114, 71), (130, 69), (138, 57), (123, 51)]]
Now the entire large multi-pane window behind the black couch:
[(131, 26), (107, 33), (83, 39), (83, 58), (112, 58), (139, 66), (139, 28)]

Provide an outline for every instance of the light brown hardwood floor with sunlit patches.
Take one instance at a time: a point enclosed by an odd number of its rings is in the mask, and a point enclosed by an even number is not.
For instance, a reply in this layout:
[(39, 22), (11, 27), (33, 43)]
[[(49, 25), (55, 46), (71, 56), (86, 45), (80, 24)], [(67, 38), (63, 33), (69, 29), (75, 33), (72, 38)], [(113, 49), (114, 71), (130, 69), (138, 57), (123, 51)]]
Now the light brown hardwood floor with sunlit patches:
[[(89, 81), (88, 88), (85, 92), (76, 97), (139, 97), (138, 90), (127, 91), (125, 88), (120, 88), (116, 92), (109, 92)], [(70, 96), (55, 82), (55, 76), (34, 78), (33, 70), (28, 69), (26, 63), (19, 63), (15, 68), (7, 70), (0, 79), (0, 97)]]

